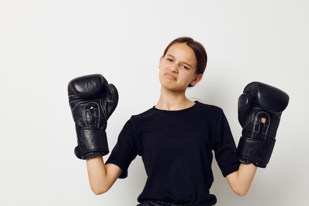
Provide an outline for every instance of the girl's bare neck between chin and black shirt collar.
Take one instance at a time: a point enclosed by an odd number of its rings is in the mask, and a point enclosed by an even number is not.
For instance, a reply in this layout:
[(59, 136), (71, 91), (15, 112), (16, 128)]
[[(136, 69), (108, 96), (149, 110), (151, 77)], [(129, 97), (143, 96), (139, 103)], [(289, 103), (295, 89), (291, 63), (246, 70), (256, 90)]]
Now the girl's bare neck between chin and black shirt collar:
[(175, 111), (192, 107), (195, 103), (186, 97), (185, 92), (186, 90), (171, 91), (161, 87), (161, 94), (155, 108)]

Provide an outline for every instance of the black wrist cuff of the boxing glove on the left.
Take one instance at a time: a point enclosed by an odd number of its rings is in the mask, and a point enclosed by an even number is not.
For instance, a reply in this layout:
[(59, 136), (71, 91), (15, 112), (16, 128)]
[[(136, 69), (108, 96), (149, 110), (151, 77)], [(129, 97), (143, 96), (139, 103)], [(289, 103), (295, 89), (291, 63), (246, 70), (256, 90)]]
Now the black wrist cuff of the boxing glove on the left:
[(109, 147), (105, 130), (93, 127), (76, 128), (77, 143), (75, 155), (85, 160), (98, 154), (109, 154)]

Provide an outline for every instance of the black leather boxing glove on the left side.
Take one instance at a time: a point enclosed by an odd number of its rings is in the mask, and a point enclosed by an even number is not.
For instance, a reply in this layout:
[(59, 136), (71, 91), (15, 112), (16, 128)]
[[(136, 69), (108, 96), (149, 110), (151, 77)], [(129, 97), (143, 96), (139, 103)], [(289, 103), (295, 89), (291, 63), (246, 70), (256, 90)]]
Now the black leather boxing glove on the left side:
[(118, 103), (116, 87), (100, 74), (87, 75), (69, 82), (68, 95), (77, 132), (75, 155), (83, 160), (107, 155), (105, 130)]

